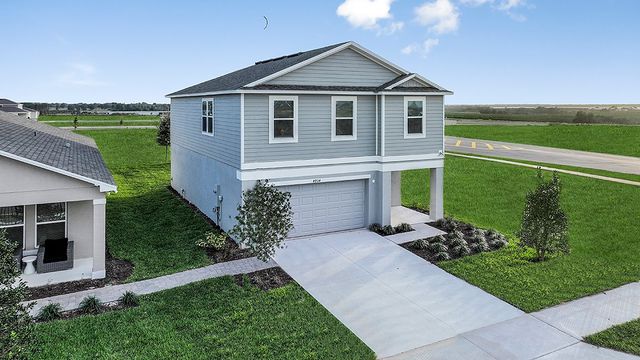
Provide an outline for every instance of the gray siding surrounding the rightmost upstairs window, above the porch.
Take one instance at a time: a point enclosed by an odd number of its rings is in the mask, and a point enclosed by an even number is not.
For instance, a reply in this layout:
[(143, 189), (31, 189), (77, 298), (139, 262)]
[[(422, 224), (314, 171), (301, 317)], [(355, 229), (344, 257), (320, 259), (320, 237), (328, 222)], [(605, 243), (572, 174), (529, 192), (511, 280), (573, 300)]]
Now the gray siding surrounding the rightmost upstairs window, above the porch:
[(442, 149), (443, 96), (427, 96), (426, 137), (404, 138), (404, 96), (386, 96), (385, 156), (438, 153)]

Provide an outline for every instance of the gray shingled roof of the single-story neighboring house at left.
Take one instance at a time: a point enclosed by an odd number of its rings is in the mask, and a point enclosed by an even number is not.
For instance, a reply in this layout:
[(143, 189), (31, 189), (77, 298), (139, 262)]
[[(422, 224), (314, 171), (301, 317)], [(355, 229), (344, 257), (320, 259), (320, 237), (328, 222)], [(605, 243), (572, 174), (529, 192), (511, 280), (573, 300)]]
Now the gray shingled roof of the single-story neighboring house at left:
[(0, 156), (116, 191), (95, 141), (64, 129), (0, 112)]

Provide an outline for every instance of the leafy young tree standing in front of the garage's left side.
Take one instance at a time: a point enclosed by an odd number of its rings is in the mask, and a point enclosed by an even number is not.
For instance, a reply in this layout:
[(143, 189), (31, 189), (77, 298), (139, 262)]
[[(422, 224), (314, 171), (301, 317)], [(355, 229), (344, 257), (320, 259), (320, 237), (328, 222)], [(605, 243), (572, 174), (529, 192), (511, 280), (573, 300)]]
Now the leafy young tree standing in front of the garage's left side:
[(293, 228), (291, 193), (259, 180), (242, 192), (242, 199), (230, 234), (258, 259), (268, 261)]

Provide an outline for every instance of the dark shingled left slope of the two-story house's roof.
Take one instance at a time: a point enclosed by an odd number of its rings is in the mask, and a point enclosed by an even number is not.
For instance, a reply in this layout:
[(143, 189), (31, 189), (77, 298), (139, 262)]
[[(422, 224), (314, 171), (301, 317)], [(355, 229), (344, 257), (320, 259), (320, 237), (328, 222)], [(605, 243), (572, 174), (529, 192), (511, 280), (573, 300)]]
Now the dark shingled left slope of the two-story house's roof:
[(329, 45), (319, 49), (299, 52), (296, 54), (281, 56), (264, 61), (258, 61), (254, 65), (251, 65), (244, 69), (240, 69), (232, 73), (217, 77), (215, 79), (190, 86), (186, 89), (176, 91), (167, 96), (237, 90), (256, 80), (260, 80), (266, 76), (275, 74), (280, 70), (284, 70), (305, 60), (311, 59), (314, 56), (320, 55), (325, 51), (331, 50), (343, 44), (345, 43)]

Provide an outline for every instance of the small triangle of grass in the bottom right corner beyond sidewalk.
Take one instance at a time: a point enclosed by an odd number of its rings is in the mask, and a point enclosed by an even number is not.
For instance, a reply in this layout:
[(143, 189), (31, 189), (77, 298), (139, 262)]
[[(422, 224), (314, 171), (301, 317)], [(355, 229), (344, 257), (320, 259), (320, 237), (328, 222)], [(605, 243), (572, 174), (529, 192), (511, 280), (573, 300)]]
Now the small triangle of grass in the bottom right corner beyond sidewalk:
[(589, 335), (585, 341), (596, 346), (640, 355), (640, 319)]

